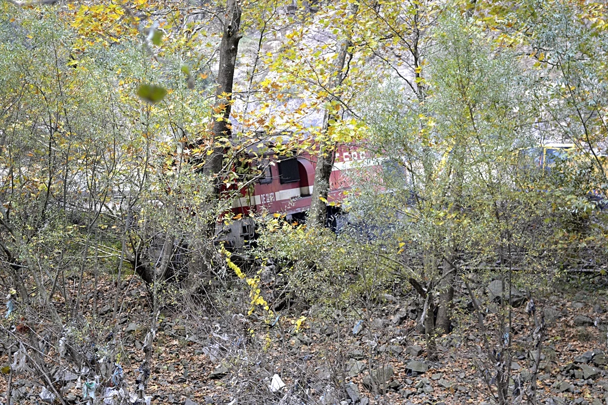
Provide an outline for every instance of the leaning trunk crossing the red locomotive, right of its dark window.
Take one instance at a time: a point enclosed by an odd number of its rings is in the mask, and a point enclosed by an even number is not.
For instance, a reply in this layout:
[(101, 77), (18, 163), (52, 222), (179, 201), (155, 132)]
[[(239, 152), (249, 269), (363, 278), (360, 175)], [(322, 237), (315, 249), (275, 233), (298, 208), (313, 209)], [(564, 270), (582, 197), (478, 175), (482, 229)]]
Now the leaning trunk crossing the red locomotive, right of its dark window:
[[(356, 13), (358, 5), (353, 4), (350, 7), (352, 14)], [(342, 84), (347, 73), (344, 72), (344, 68), (347, 66), (352, 58), (352, 53), (349, 52), (353, 43), (350, 40), (350, 35), (346, 39), (342, 40), (338, 47), (338, 55), (336, 61), (334, 61), (334, 71), (332, 72), (332, 78), (330, 80), (329, 88), (331, 90), (337, 89)], [(348, 62), (347, 62), (348, 56)], [(329, 97), (328, 101), (335, 101), (336, 96)], [(337, 111), (331, 106), (325, 109), (323, 115), (323, 128), (321, 129), (322, 139), (319, 141), (319, 154), (317, 155), (317, 166), (314, 170), (314, 186), (313, 194), (311, 197), (310, 210), (308, 213), (308, 219), (313, 226), (325, 226), (327, 223), (327, 196), (330, 192), (330, 176), (331, 169), (333, 169), (334, 158), (336, 157), (336, 143), (332, 141), (328, 134), (330, 132), (331, 121), (338, 118)]]

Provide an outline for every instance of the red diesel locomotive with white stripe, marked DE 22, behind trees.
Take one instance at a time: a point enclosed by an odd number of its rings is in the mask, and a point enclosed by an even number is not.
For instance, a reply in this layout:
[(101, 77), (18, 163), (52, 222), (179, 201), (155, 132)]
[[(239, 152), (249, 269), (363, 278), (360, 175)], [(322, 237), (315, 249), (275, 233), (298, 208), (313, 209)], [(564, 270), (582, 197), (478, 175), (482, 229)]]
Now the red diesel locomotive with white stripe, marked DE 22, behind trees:
[[(256, 154), (250, 153), (250, 158)], [(261, 171), (254, 185), (243, 188), (232, 204), (233, 214), (243, 214), (240, 220), (222, 226), (218, 240), (227, 247), (239, 249), (246, 240), (254, 238), (254, 220), (249, 214), (285, 214), (288, 220), (305, 219), (311, 205), (316, 157), (303, 152), (296, 157), (282, 158), (263, 155), (252, 160)], [(336, 228), (337, 209), (331, 202), (340, 202), (344, 191), (352, 186), (348, 169), (355, 165), (371, 166), (373, 160), (365, 151), (353, 145), (340, 145), (336, 151), (328, 195), (328, 225)]]

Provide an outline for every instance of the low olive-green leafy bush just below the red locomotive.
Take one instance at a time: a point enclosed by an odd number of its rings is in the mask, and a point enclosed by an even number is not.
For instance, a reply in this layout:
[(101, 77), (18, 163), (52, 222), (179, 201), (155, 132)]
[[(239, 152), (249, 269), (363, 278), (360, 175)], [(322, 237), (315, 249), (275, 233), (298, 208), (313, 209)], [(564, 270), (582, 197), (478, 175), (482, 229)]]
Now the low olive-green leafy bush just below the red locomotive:
[(334, 305), (370, 302), (385, 287), (387, 266), (358, 239), (325, 228), (292, 225), (282, 219), (264, 224), (260, 253), (271, 257), (286, 290), (309, 303)]

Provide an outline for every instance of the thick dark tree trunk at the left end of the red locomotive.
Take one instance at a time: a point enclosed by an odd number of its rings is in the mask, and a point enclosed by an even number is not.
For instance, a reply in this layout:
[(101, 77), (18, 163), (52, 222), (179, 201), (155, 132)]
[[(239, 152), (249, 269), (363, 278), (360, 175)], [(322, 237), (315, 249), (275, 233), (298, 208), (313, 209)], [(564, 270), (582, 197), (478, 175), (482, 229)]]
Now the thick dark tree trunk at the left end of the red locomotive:
[[(224, 34), (219, 45), (219, 70), (217, 78), (216, 101), (213, 106), (213, 152), (204, 165), (206, 174), (215, 176), (213, 181), (213, 193), (219, 196), (221, 180), (218, 177), (222, 169), (224, 159), (224, 146), (217, 145), (219, 138), (232, 137), (230, 128), (230, 110), (232, 109), (232, 86), (234, 83), (234, 70), (237, 64), (238, 42), (242, 35), (239, 33), (241, 26), (241, 7), (237, 0), (227, 0), (226, 21), (224, 22)], [(217, 114), (221, 117), (215, 118)]]

